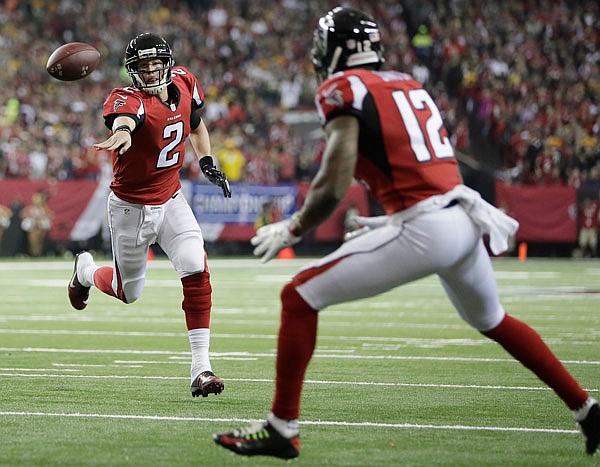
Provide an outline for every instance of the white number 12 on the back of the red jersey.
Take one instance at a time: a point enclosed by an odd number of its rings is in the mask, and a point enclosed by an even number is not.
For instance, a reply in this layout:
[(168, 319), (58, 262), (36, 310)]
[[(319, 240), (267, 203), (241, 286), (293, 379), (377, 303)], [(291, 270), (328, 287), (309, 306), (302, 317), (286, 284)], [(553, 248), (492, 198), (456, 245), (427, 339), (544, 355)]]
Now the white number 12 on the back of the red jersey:
[[(410, 147), (419, 162), (430, 161), (433, 157), (437, 159), (454, 157), (450, 140), (447, 136), (442, 138), (440, 134), (443, 127), (440, 111), (427, 91), (424, 89), (412, 89), (408, 92), (394, 91), (392, 96), (408, 132)], [(431, 115), (424, 122), (425, 128), (423, 128), (423, 123), (417, 118), (415, 109), (424, 110), (426, 108), (429, 109)], [(427, 140), (429, 140), (432, 151), (427, 146)]]

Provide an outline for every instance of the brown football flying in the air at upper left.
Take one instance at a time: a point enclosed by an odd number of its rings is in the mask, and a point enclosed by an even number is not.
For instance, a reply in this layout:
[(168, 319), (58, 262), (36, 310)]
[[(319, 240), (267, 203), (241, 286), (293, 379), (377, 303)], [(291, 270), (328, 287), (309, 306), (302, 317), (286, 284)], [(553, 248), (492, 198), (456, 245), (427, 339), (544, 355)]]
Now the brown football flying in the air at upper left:
[(46, 71), (60, 81), (75, 81), (89, 76), (100, 63), (100, 52), (84, 42), (61, 45), (48, 58)]

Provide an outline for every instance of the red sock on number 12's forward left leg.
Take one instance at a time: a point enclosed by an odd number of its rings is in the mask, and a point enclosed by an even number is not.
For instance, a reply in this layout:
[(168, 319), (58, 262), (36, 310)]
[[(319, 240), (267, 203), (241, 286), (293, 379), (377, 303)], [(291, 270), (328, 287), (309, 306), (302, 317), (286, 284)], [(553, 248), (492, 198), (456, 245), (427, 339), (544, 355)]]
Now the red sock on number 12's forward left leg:
[(298, 294), (292, 283), (281, 291), (281, 325), (277, 340), (277, 376), (271, 411), (286, 420), (300, 416), (304, 374), (317, 340), (318, 313)]

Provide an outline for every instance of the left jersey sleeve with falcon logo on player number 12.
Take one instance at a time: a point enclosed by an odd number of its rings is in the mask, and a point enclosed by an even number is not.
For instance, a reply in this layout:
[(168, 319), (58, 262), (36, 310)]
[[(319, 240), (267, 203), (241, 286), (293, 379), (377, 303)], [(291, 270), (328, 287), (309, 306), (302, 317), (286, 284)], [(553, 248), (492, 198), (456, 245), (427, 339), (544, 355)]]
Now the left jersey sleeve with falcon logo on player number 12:
[(335, 76), (321, 84), (315, 98), (321, 125), (339, 115), (358, 115), (358, 97), (347, 75)]

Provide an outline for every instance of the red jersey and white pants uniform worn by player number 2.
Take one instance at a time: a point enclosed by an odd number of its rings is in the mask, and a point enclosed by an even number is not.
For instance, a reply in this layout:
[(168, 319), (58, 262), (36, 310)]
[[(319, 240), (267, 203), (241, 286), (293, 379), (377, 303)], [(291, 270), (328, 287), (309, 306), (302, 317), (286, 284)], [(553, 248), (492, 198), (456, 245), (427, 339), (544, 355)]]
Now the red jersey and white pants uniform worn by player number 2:
[(131, 147), (121, 155), (113, 151), (108, 199), (115, 266), (111, 287), (126, 303), (142, 293), (153, 243), (161, 246), (181, 278), (206, 269), (202, 232), (180, 193), (179, 180), (191, 116), (203, 106), (204, 94), (184, 67), (174, 67), (172, 73), (172, 104), (134, 87), (113, 89), (104, 103), (109, 127), (118, 115), (137, 122)]

